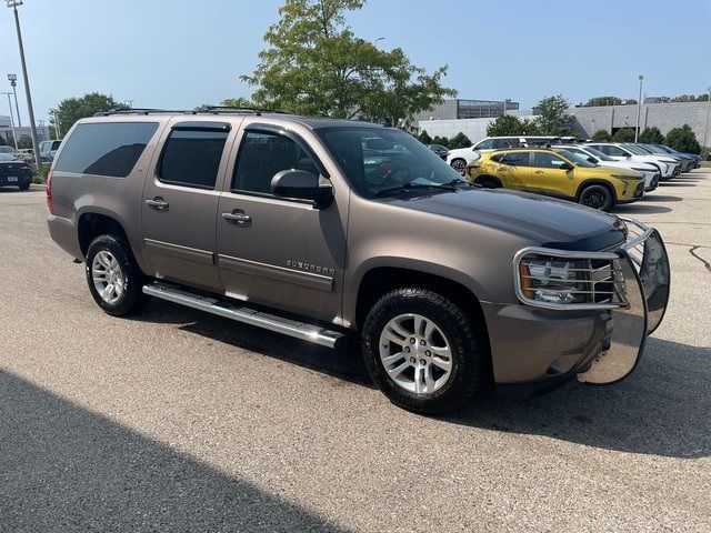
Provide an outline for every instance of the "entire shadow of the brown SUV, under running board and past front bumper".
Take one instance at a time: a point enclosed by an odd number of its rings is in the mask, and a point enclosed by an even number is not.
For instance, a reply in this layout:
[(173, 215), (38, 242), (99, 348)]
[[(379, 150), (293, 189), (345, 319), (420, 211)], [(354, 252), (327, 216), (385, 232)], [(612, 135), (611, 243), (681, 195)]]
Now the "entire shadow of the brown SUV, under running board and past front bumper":
[[(373, 389), (356, 342), (338, 352), (277, 333), (153, 302), (141, 320), (184, 331)], [(537, 434), (588, 446), (684, 459), (711, 456), (711, 349), (651, 338), (634, 373), (611, 386), (571, 382), (548, 395), (487, 395), (444, 416), (453, 424)]]

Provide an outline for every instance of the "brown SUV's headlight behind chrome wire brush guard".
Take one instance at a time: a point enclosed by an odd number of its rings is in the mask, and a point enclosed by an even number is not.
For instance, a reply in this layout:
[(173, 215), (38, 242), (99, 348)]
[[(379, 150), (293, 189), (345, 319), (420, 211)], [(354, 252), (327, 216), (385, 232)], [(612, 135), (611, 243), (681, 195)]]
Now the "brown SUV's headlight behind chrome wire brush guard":
[(619, 257), (605, 252), (524, 249), (514, 259), (517, 295), (548, 309), (612, 309), (623, 305)]

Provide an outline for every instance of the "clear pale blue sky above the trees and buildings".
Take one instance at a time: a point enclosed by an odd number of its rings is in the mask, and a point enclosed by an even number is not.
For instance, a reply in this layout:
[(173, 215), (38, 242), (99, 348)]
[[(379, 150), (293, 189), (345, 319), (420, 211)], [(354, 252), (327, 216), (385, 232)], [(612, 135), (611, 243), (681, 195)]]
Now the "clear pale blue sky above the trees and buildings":
[[(24, 0), (19, 8), (37, 119), (100, 91), (134, 107), (191, 109), (249, 97), (262, 37), (282, 0)], [(711, 84), (711, 0), (369, 0), (358, 37), (402, 48), (460, 98), (531, 108), (562, 93), (702, 93)], [(0, 3), (0, 87), (21, 67), (12, 10)], [(27, 120), (24, 87), (18, 87)], [(9, 114), (7, 97), (0, 114)]]

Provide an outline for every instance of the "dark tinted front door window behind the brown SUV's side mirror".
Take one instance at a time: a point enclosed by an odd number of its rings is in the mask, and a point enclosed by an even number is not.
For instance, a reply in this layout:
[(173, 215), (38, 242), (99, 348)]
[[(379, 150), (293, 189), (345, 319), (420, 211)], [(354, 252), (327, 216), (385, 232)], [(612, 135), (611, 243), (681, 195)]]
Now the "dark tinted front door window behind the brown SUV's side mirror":
[(311, 158), (293, 140), (277, 133), (248, 131), (234, 165), (232, 190), (271, 194), (274, 174), (290, 169), (319, 175)]

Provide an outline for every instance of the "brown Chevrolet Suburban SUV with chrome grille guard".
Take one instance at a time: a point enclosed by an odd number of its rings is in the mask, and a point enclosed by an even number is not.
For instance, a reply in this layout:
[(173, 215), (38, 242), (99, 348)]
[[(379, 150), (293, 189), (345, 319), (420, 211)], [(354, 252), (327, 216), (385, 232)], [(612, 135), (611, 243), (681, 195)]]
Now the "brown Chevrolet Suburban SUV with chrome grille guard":
[(659, 233), (464, 181), (410, 134), (250, 110), (79, 121), (47, 190), (54, 241), (107, 313), (150, 296), (338, 348), (397, 404), (488, 383), (611, 383), (661, 322)]

